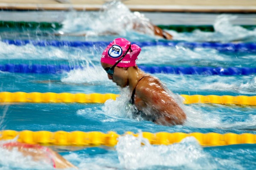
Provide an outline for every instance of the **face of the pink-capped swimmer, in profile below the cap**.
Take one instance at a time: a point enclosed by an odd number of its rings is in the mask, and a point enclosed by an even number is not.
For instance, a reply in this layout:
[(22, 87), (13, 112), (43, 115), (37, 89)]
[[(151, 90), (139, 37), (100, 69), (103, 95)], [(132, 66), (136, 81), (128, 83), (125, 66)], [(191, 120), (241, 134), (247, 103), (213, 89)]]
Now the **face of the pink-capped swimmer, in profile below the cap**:
[[(102, 68), (104, 70), (108, 70), (109, 67), (113, 66), (106, 63), (101, 63)], [(112, 80), (116, 83), (116, 85), (120, 86), (121, 88), (124, 88), (128, 85), (128, 71), (127, 68), (124, 67), (118, 67), (116, 66), (114, 68), (113, 75), (108, 74), (108, 79)]]

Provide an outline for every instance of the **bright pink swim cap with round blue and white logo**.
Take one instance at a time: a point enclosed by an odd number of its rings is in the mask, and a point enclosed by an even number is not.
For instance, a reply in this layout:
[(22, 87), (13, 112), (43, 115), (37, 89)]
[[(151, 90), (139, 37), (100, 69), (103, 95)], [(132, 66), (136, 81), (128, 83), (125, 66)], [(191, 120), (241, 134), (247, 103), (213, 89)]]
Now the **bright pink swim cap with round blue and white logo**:
[[(103, 51), (100, 62), (114, 65), (125, 52), (129, 49), (131, 42), (125, 38), (116, 38)], [(132, 67), (136, 65), (136, 60), (140, 54), (141, 48), (136, 45), (131, 45), (131, 50), (127, 52), (125, 57), (117, 64), (119, 67)]]

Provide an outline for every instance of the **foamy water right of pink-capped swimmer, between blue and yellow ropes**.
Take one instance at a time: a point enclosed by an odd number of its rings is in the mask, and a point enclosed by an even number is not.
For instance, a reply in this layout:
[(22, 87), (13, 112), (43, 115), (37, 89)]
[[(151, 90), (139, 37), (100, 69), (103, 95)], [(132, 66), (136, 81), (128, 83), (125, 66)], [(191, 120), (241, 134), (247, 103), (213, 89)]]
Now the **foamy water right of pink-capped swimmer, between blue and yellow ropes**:
[[(255, 95), (256, 77), (250, 76), (204, 76), (204, 75), (175, 75), (154, 74), (172, 91), (197, 91), (212, 94), (230, 92), (236, 95)], [(207, 93), (208, 91), (208, 93)]]

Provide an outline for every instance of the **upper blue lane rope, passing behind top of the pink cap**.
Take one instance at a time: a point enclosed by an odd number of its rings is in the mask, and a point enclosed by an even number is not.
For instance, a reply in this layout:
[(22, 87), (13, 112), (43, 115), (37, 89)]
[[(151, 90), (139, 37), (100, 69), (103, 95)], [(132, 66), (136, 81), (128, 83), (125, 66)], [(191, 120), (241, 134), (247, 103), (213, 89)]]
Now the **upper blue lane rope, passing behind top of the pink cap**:
[[(26, 45), (32, 44), (36, 46), (69, 46), (69, 47), (102, 47), (105, 48), (110, 42), (105, 41), (57, 41), (57, 40), (2, 40), (10, 45)], [(256, 52), (256, 42), (247, 43), (220, 43), (220, 42), (180, 42), (180, 41), (152, 41), (152, 42), (132, 42), (140, 47), (163, 45), (170, 47), (186, 47), (186, 48), (212, 48), (221, 52)]]

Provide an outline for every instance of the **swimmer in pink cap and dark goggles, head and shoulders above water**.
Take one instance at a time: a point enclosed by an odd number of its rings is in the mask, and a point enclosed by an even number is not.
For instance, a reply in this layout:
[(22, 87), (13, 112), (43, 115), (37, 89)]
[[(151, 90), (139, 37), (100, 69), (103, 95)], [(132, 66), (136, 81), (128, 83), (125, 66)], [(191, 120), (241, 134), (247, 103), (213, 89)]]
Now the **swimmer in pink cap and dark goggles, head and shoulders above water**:
[(186, 114), (175, 102), (159, 79), (145, 74), (136, 65), (141, 48), (125, 38), (117, 38), (103, 51), (101, 65), (108, 79), (121, 88), (131, 90), (130, 103), (134, 116), (159, 125), (182, 125)]

